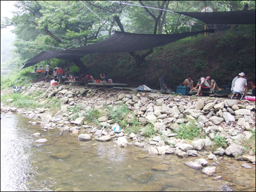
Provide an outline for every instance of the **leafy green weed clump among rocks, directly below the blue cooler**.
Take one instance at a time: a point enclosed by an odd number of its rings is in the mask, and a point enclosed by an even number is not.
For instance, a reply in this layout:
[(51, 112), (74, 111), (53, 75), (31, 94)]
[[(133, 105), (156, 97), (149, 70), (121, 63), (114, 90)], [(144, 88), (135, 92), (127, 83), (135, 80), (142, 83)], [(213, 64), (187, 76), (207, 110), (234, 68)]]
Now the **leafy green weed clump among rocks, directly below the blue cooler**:
[(200, 135), (200, 129), (198, 129), (193, 122), (190, 122), (187, 125), (185, 123), (181, 123), (179, 128), (180, 130), (177, 132), (177, 134), (181, 139), (193, 140)]

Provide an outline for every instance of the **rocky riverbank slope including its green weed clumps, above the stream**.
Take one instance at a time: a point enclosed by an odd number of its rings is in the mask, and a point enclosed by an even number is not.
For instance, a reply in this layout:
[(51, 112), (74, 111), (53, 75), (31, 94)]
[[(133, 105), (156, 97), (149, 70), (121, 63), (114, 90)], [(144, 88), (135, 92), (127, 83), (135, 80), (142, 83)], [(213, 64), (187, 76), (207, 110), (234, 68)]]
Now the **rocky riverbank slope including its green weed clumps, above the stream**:
[[(1, 102), (1, 112), (9, 113), (9, 117), (20, 113), (35, 119), (31, 123), (39, 123), (44, 131), (59, 129), (60, 134), (77, 135), (79, 141), (117, 140), (120, 147), (141, 147), (151, 155), (198, 157), (185, 164), (202, 169), (208, 176), (215, 175), (224, 156), (247, 161), (252, 164), (243, 163), (243, 167), (255, 168), (252, 101), (81, 86), (51, 87), (45, 82), (31, 84), (22, 95), (31, 96), (40, 107), (17, 109), (12, 107), (15, 99), (6, 99)], [(49, 104), (52, 98), (60, 108), (54, 113)], [(119, 133), (112, 129), (115, 124), (121, 125)], [(39, 133), (33, 135), (38, 138), (35, 142), (47, 142)], [(207, 166), (205, 157), (215, 163)], [(164, 170), (164, 164), (156, 169)]]

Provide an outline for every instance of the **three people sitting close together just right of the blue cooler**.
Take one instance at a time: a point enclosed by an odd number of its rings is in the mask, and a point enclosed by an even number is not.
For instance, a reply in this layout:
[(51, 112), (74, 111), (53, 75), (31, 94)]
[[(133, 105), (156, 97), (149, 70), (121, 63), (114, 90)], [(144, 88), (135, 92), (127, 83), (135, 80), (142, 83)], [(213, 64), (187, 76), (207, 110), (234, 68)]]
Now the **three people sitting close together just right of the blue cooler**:
[(196, 80), (198, 81), (197, 86), (193, 87), (193, 80), (191, 75), (188, 75), (187, 78), (184, 80), (183, 84), (184, 87), (188, 87), (190, 91), (194, 91), (198, 89), (198, 93), (196, 96), (203, 96), (202, 91), (210, 91), (210, 90), (218, 90), (217, 83), (214, 79), (211, 79), (210, 76), (207, 76), (206, 78), (197, 76)]

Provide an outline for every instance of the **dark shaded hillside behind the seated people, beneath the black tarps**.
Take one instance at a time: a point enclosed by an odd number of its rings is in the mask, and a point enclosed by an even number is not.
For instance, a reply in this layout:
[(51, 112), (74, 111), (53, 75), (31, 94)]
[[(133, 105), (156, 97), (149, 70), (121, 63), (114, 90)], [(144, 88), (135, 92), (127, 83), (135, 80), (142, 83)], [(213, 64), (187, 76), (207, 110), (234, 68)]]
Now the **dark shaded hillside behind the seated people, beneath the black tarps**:
[(137, 87), (147, 84), (159, 89), (159, 77), (168, 87), (179, 86), (186, 76), (211, 76), (219, 85), (231, 85), (232, 79), (242, 71), (255, 79), (255, 25), (253, 32), (234, 32), (199, 35), (182, 39), (154, 49), (140, 69), (128, 53), (88, 55), (83, 62), (88, 73), (99, 78), (107, 71), (114, 82), (129, 83)]

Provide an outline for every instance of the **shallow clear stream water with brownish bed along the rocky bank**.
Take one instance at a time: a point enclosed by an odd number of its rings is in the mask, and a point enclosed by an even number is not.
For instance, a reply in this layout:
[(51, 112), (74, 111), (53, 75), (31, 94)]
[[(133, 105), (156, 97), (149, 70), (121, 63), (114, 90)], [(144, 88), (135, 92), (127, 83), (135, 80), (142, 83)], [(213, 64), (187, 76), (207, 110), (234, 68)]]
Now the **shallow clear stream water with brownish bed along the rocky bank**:
[[(245, 169), (239, 167), (242, 162), (229, 159), (216, 173), (229, 181), (214, 181), (184, 165), (197, 158), (150, 157), (141, 148), (120, 148), (115, 141), (81, 142), (77, 136), (59, 135), (58, 129), (44, 132), (19, 115), (1, 118), (1, 191), (216, 191), (225, 184), (255, 191), (254, 165)], [(36, 132), (48, 141), (35, 144), (31, 135)], [(152, 169), (160, 163), (168, 170)]]

